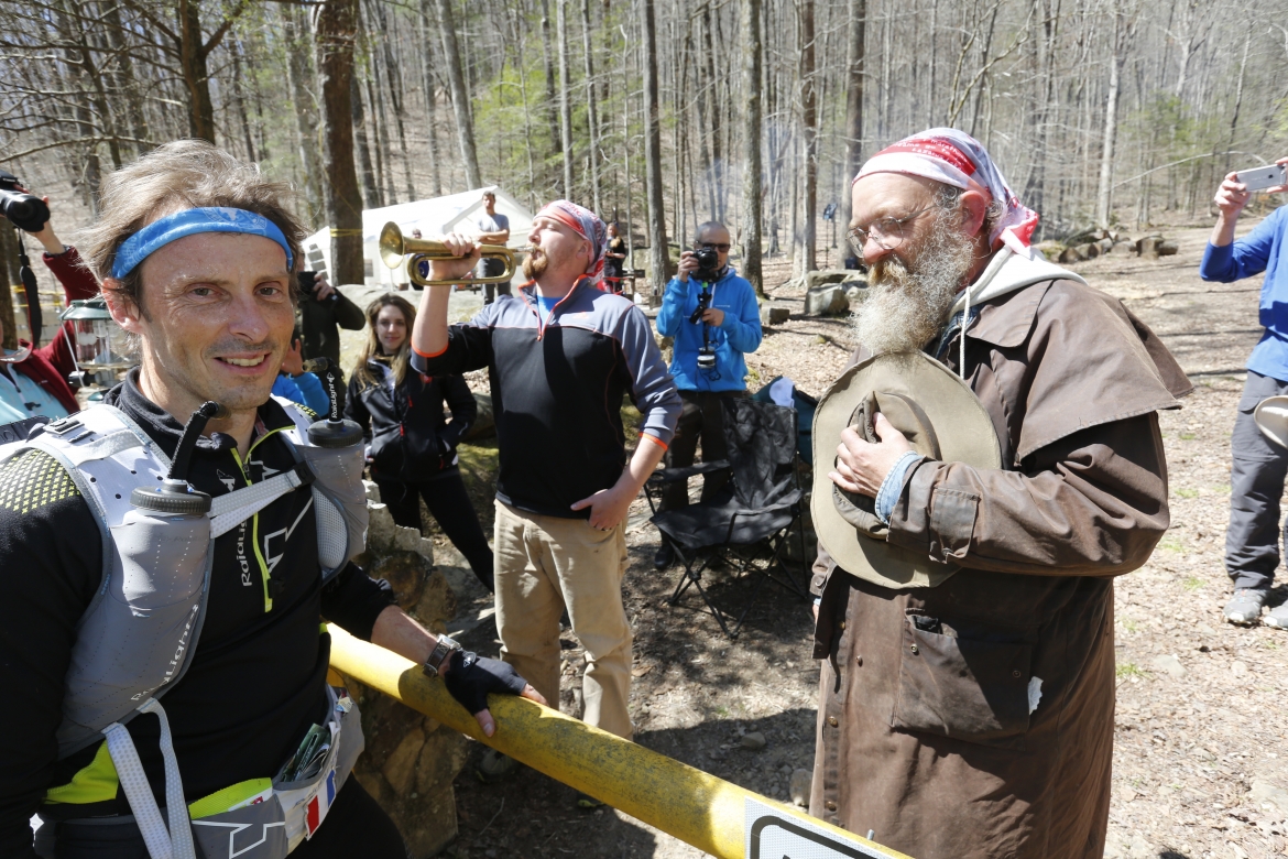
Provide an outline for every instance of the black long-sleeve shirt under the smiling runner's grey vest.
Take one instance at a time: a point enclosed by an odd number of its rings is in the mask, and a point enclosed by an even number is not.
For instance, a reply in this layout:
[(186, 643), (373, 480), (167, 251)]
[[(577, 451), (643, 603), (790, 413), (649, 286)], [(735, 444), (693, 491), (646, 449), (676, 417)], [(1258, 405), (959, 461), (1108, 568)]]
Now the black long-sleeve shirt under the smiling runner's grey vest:
[[(135, 375), (109, 392), (167, 456), (180, 424), (148, 402)], [(245, 467), (232, 437), (202, 439), (189, 482), (220, 496), (291, 467), (274, 430), (290, 417), (269, 401), (259, 410)], [(215, 541), (206, 619), (187, 674), (161, 698), (174, 734), (184, 793), (192, 802), (229, 784), (272, 777), (313, 722), (326, 715), (330, 636), (323, 617), (370, 639), (376, 616), (393, 603), (388, 585), (352, 564), (321, 583), (317, 527), (308, 487), (300, 487)], [(258, 543), (258, 545), (256, 545)], [(258, 549), (258, 551), (256, 551)], [(260, 563), (263, 559), (263, 564)], [(265, 569), (283, 590), (265, 600)], [(27, 452), (0, 466), (0, 855), (33, 856), (28, 827), (46, 789), (88, 766), (99, 743), (57, 760), (63, 680), (76, 623), (103, 576), (102, 541), (89, 504), (52, 457)], [(158, 720), (129, 722), (158, 804), (165, 777)], [(54, 819), (129, 814), (124, 791), (89, 805), (44, 805)]]

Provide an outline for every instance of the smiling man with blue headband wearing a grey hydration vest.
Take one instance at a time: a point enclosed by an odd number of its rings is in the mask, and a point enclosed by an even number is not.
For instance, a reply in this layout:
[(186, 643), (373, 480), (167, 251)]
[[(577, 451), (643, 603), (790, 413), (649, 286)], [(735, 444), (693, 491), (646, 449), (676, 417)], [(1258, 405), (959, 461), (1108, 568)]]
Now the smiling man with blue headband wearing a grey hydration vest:
[(323, 619), (424, 663), (487, 734), (488, 692), (541, 701), (352, 563), (361, 433), (270, 397), (303, 234), (286, 192), (193, 140), (103, 183), (85, 256), (140, 364), (0, 447), (0, 683), (23, 690), (5, 856), (406, 856), (349, 778), (362, 729)]

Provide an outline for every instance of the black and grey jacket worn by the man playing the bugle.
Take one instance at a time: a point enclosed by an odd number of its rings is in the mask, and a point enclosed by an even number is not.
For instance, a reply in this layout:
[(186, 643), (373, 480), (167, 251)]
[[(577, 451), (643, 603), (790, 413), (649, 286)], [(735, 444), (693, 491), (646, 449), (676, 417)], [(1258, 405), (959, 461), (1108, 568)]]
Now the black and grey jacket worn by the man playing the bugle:
[(617, 483), (626, 465), (622, 395), (644, 416), (641, 443), (666, 447), (680, 394), (648, 318), (629, 299), (581, 281), (542, 325), (536, 287), (498, 296), (448, 328), (437, 355), (412, 367), (439, 376), (487, 367), (500, 448), (496, 497), (549, 516), (586, 519), (572, 505)]

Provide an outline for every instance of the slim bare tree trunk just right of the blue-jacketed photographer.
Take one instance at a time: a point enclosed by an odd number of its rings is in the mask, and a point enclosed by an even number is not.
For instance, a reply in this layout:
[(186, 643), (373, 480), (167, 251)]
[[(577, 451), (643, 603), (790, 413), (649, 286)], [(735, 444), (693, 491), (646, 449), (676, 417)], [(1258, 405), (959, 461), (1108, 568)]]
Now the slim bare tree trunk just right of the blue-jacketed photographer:
[[(862, 1), (862, 0), (860, 0)], [(742, 24), (742, 276), (765, 297), (760, 242), (764, 219), (764, 176), (761, 167), (761, 66), (764, 40), (760, 32), (761, 0), (741, 0)]]

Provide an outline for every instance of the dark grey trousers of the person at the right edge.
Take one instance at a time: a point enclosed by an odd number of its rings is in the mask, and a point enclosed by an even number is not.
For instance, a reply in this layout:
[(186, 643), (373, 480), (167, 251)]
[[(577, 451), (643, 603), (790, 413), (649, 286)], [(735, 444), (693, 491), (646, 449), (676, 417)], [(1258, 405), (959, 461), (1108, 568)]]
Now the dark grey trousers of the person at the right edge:
[(1288, 382), (1248, 371), (1230, 439), (1225, 569), (1235, 589), (1269, 590), (1279, 567), (1279, 500), (1288, 475), (1288, 449), (1267, 439), (1252, 419), (1257, 403), (1276, 394), (1288, 394)]

